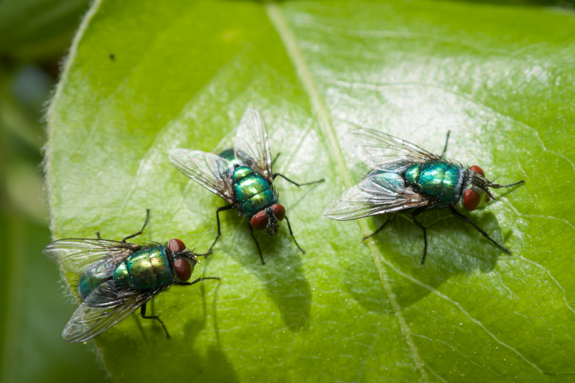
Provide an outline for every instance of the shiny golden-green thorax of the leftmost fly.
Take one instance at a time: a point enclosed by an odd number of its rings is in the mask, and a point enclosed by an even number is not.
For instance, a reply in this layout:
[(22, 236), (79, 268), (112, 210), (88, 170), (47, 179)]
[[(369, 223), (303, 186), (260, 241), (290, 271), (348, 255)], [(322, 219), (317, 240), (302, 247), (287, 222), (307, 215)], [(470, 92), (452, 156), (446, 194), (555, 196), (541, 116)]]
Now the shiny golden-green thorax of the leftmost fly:
[(159, 246), (132, 254), (114, 270), (114, 282), (123, 288), (151, 290), (172, 281), (168, 257)]

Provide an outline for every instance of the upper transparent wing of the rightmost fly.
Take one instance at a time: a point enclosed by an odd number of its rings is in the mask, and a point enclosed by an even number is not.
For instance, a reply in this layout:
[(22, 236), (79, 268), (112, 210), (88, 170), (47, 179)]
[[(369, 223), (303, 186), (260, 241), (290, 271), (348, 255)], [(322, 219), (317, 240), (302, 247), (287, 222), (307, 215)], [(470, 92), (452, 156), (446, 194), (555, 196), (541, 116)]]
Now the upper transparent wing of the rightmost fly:
[[(393, 170), (400, 163), (425, 163), (442, 157), (400, 138), (373, 129), (358, 129), (352, 134), (359, 140), (358, 156), (373, 169)], [(445, 159), (443, 158), (445, 161)]]

